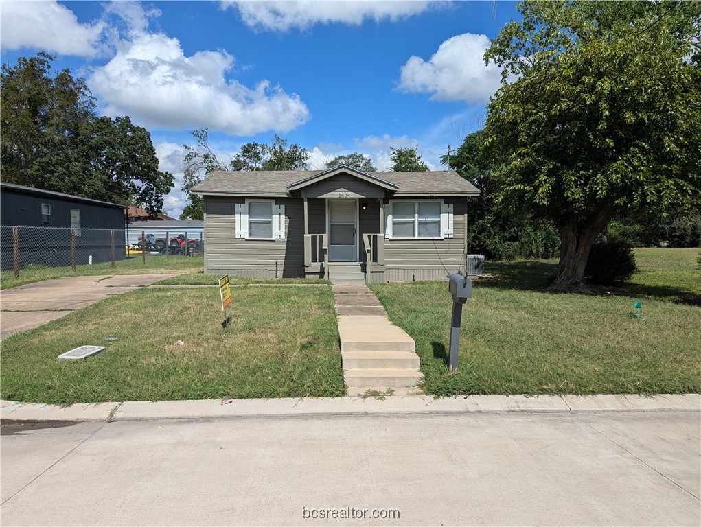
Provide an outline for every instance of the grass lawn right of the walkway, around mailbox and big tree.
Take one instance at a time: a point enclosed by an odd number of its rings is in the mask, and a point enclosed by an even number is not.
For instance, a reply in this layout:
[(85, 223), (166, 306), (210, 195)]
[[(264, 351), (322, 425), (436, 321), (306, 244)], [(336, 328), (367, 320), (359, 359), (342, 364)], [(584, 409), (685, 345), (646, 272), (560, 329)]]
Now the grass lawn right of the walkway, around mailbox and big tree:
[(371, 287), (416, 341), (431, 395), (700, 392), (698, 253), (637, 249), (641, 271), (607, 297), (543, 290), (555, 261), (488, 263), (496, 279), (475, 282), (452, 374), (447, 282)]

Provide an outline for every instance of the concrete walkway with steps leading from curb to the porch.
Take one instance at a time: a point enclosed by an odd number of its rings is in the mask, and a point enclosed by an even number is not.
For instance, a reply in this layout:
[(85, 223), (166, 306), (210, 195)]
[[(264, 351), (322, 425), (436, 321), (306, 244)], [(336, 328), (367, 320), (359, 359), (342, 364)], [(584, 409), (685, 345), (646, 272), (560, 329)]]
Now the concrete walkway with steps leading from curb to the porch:
[(416, 345), (387, 317), (367, 286), (334, 286), (343, 377), (349, 395), (391, 390), (395, 395), (418, 392), (423, 374)]

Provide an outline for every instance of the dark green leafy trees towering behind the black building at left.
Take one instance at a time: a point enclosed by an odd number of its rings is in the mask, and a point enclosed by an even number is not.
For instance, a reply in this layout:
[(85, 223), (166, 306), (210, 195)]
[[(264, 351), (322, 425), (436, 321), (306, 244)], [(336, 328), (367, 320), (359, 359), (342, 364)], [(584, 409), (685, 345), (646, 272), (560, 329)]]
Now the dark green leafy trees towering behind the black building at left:
[(163, 208), (172, 175), (158, 170), (149, 132), (128, 117), (100, 117), (82, 78), (50, 74), (39, 53), (2, 66), (2, 178), (128, 205)]

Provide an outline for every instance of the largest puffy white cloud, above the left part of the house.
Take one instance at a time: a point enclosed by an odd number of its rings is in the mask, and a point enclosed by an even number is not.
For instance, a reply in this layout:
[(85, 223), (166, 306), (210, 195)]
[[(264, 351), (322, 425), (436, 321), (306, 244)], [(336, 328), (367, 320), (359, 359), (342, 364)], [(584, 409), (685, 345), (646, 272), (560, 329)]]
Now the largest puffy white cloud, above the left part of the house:
[(95, 69), (88, 87), (108, 115), (128, 114), (154, 128), (210, 128), (233, 135), (287, 132), (310, 117), (298, 95), (260, 81), (253, 89), (227, 80), (234, 57), (200, 51), (186, 57), (177, 39), (135, 32), (116, 55)]

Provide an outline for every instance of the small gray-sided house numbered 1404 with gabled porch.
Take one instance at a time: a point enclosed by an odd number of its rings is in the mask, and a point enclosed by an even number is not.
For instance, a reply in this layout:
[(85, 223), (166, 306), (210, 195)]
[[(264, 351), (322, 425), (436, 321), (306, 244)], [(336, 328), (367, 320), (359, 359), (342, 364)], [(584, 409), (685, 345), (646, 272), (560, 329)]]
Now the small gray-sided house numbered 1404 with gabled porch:
[(454, 171), (212, 172), (204, 197), (205, 273), (325, 277), (355, 265), (365, 282), (440, 280), (465, 269), (466, 205)]

